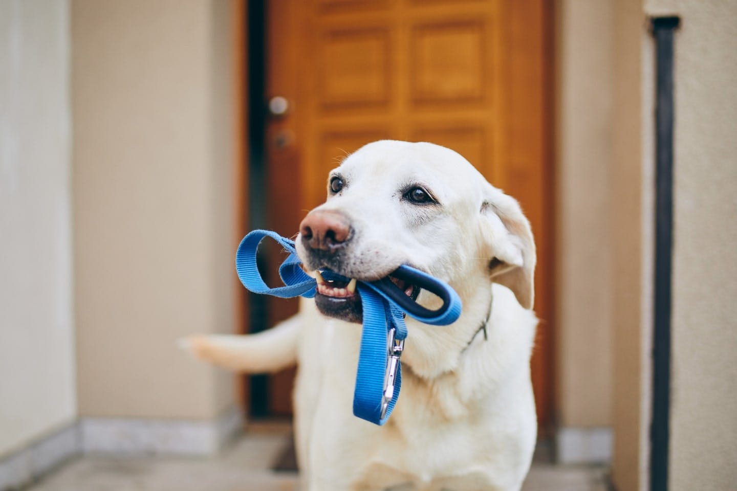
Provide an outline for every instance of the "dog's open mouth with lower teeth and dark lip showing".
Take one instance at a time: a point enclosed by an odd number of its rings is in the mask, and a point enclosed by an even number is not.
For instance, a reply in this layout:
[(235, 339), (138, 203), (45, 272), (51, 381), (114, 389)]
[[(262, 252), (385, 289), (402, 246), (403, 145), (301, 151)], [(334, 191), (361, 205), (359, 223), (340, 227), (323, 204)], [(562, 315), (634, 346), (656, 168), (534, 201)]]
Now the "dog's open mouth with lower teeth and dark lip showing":
[[(347, 322), (363, 322), (363, 305), (357, 289), (356, 278), (345, 278), (329, 272), (315, 271), (317, 294), (315, 305), (322, 314)], [(420, 287), (400, 278), (388, 278), (412, 300), (417, 300)]]

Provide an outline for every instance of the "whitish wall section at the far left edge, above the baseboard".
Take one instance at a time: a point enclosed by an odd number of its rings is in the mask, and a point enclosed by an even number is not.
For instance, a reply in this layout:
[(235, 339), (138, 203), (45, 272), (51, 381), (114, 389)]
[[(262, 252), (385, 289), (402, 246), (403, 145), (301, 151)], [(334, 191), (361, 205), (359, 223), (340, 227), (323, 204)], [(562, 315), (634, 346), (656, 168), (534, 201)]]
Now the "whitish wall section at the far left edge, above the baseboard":
[(0, 1), (0, 459), (77, 413), (68, 17)]

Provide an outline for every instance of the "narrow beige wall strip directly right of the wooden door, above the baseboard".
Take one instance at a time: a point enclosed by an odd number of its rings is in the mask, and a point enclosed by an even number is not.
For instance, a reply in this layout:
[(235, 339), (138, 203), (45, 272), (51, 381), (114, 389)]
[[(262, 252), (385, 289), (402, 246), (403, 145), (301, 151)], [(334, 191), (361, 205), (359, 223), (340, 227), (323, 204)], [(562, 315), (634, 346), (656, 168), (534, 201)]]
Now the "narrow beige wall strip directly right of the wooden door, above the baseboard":
[(608, 426), (612, 393), (612, 7), (559, 1), (556, 325), (559, 425)]

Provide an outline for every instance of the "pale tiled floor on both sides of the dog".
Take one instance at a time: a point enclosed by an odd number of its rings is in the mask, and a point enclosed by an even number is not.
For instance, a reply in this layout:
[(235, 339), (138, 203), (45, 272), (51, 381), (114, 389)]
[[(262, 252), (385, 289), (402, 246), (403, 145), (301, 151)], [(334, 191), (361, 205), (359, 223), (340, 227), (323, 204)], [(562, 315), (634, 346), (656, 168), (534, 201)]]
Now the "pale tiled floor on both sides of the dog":
[[(240, 437), (212, 459), (85, 456), (64, 464), (29, 491), (296, 491), (295, 473), (270, 467), (288, 430)], [(523, 491), (606, 491), (602, 467), (534, 464)]]

